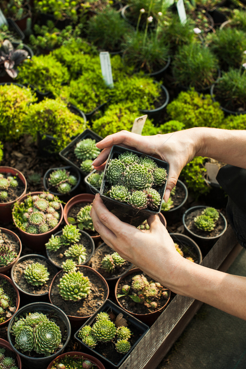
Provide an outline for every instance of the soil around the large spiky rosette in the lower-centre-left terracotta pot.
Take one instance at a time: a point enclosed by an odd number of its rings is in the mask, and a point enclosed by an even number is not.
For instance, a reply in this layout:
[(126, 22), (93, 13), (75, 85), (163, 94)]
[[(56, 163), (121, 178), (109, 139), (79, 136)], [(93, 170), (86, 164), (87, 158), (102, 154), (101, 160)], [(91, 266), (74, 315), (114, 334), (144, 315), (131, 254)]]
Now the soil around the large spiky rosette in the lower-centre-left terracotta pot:
[(65, 301), (59, 293), (59, 280), (63, 275), (63, 271), (56, 277), (51, 289), (52, 304), (62, 309), (66, 315), (74, 317), (89, 317), (103, 304), (107, 297), (107, 288), (103, 281), (91, 270), (81, 267), (79, 270), (84, 276), (89, 277), (91, 293), (79, 301)]

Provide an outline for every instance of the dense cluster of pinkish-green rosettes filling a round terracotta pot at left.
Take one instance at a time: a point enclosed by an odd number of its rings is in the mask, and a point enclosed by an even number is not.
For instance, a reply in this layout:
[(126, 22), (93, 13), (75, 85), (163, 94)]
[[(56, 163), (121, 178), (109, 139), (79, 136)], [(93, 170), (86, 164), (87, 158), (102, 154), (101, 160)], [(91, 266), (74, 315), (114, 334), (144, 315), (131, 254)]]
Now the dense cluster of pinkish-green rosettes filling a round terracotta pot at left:
[(60, 220), (60, 203), (58, 197), (49, 192), (29, 195), (14, 204), (13, 220), (18, 228), (31, 234), (45, 233), (58, 225)]

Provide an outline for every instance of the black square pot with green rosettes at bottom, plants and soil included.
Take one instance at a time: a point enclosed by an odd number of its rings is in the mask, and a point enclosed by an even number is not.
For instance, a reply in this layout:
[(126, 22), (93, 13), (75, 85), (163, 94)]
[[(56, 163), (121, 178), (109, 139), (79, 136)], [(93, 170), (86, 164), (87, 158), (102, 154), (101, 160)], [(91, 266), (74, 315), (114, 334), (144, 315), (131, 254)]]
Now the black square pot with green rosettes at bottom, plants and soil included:
[(119, 368), (149, 330), (146, 324), (106, 300), (75, 333), (75, 338), (106, 368)]

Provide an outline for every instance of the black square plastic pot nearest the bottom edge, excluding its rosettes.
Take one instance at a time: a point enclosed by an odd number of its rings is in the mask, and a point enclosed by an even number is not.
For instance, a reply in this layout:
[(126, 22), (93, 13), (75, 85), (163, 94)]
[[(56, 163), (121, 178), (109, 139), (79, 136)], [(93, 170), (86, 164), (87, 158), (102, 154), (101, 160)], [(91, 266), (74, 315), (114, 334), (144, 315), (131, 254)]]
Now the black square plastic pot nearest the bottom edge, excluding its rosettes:
[[(134, 335), (133, 338), (134, 338), (134, 341), (135, 342), (132, 344), (130, 350), (125, 355), (124, 354), (119, 354), (119, 356), (121, 356), (121, 358), (119, 358), (119, 361), (117, 363), (115, 363), (115, 362), (113, 363), (110, 360), (110, 358), (103, 356), (101, 354), (101, 352), (99, 352), (97, 346), (92, 349), (89, 346), (87, 346), (86, 344), (84, 344), (81, 341), (81, 339), (78, 337), (78, 333), (81, 330), (81, 328), (84, 327), (84, 325), (92, 325), (92, 324), (94, 324), (94, 322), (96, 321), (96, 315), (99, 314), (99, 313), (101, 313), (102, 311), (103, 312), (106, 312), (106, 313), (109, 313), (109, 312), (112, 311), (112, 313), (114, 313), (115, 316), (117, 316), (119, 313), (122, 313), (123, 314), (123, 317), (125, 319), (127, 319), (128, 328), (130, 330), (137, 329), (137, 331), (139, 332), (139, 334)], [(121, 366), (121, 364), (124, 362), (124, 360), (127, 358), (127, 356), (132, 352), (132, 350), (135, 348), (135, 346), (138, 344), (138, 342), (143, 338), (143, 336), (149, 330), (148, 325), (142, 323), (140, 320), (138, 320), (137, 318), (133, 317), (131, 314), (128, 314), (125, 310), (123, 310), (121, 307), (115, 305), (110, 300), (106, 300), (105, 303), (96, 311), (96, 313), (94, 313), (82, 325), (82, 327), (80, 327), (79, 330), (77, 330), (77, 332), (75, 333), (74, 337), (83, 346), (83, 352), (88, 351), (91, 355), (93, 355), (93, 356), (97, 357), (98, 359), (100, 359), (104, 363), (105, 368), (108, 368), (108, 369), (119, 368), (119, 366)], [(131, 338), (129, 339), (129, 342), (131, 343)], [(108, 344), (110, 344), (110, 342), (108, 342)], [(111, 344), (111, 345), (114, 345), (114, 344)], [(115, 349), (115, 351), (116, 351), (116, 349)]]

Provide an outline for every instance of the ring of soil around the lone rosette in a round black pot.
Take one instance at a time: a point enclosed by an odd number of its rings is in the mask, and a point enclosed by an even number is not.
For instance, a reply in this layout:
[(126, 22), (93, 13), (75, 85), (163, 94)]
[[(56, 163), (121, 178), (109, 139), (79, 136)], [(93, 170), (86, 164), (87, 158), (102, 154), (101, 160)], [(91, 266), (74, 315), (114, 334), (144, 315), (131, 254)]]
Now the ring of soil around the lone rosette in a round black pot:
[[(27, 282), (27, 280), (25, 279), (25, 275), (23, 273), (23, 271), (28, 267), (28, 265), (31, 265), (32, 263), (36, 263), (36, 262), (44, 265), (45, 268), (47, 268), (49, 272), (49, 279), (42, 286), (32, 286), (32, 284)], [(30, 259), (25, 259), (21, 261), (20, 263), (17, 262), (17, 264), (14, 267), (13, 278), (14, 278), (15, 283), (18, 285), (18, 287), (20, 287), (23, 291), (32, 293), (34, 295), (40, 295), (40, 294), (49, 292), (49, 286), (52, 282), (52, 279), (55, 277), (55, 275), (56, 275), (56, 272), (54, 270), (54, 267), (49, 262), (41, 258), (35, 258), (35, 259), (30, 258)]]

